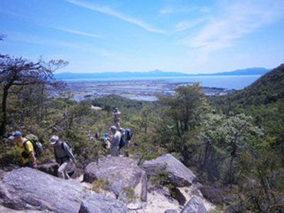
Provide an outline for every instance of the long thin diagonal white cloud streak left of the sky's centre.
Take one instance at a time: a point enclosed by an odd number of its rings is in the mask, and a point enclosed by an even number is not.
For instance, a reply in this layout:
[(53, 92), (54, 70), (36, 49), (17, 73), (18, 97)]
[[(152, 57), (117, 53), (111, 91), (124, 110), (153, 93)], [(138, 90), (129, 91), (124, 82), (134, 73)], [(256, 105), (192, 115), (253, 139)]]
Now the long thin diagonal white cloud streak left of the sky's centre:
[(165, 33), (165, 31), (160, 30), (158, 28), (155, 28), (153, 26), (150, 26), (148, 23), (145, 23), (145, 22), (139, 20), (138, 18), (126, 16), (124, 13), (120, 13), (119, 11), (115, 11), (114, 9), (110, 9), (107, 6), (97, 6), (97, 5), (94, 5), (94, 4), (89, 4), (87, 2), (77, 1), (77, 0), (65, 0), (65, 1), (69, 2), (70, 4), (74, 4), (74, 5), (86, 8), (86, 9), (90, 9), (92, 11), (97, 11), (99, 13), (104, 13), (104, 14), (107, 14), (109, 16), (114, 16), (114, 17), (119, 18), (123, 21), (133, 23), (136, 26), (139, 26), (139, 27), (145, 29), (146, 31), (150, 31), (150, 32), (153, 32), (153, 33)]

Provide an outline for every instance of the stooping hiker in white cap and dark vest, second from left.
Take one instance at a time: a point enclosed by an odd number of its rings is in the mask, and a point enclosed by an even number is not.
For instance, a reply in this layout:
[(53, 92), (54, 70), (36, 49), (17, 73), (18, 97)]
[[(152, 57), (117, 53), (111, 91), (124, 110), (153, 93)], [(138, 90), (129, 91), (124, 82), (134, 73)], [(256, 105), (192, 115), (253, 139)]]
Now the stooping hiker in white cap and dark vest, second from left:
[(67, 142), (61, 141), (58, 136), (52, 136), (50, 143), (53, 145), (55, 160), (59, 165), (58, 177), (67, 180), (70, 178), (68, 168), (72, 163), (77, 165), (77, 161), (71, 151), (71, 146)]

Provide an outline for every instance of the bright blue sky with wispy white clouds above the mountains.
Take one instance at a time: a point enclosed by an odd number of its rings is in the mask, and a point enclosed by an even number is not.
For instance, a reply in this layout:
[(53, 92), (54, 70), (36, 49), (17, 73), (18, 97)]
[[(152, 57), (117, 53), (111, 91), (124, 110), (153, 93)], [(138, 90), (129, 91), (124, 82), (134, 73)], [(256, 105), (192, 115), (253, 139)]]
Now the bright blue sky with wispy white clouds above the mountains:
[(1, 0), (0, 53), (60, 72), (209, 73), (284, 62), (284, 0)]

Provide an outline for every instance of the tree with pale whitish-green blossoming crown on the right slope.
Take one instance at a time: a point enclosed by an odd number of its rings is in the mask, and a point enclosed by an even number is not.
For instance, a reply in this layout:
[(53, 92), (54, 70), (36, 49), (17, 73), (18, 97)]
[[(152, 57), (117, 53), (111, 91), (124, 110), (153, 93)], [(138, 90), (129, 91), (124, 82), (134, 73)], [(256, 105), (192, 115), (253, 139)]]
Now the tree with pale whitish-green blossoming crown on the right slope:
[[(229, 184), (237, 182), (236, 172), (239, 170), (240, 155), (244, 151), (252, 151), (253, 145), (263, 136), (263, 131), (253, 125), (251, 116), (236, 114), (233, 116), (214, 116), (204, 129), (204, 138), (208, 138), (219, 153), (228, 156), (225, 181)], [(221, 149), (221, 150), (220, 150)], [(206, 153), (208, 154), (208, 153)], [(204, 161), (208, 156), (204, 155)]]

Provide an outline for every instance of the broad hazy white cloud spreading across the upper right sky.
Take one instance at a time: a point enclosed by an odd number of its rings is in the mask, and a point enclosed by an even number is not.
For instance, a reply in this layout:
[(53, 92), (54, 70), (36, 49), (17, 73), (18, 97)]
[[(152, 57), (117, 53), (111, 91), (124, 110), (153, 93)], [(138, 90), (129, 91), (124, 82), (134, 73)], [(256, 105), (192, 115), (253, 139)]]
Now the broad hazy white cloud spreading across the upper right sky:
[(222, 16), (212, 18), (193, 38), (182, 40), (205, 62), (209, 53), (234, 46), (239, 38), (284, 17), (284, 0), (241, 0), (223, 5)]

